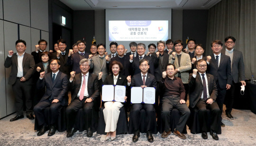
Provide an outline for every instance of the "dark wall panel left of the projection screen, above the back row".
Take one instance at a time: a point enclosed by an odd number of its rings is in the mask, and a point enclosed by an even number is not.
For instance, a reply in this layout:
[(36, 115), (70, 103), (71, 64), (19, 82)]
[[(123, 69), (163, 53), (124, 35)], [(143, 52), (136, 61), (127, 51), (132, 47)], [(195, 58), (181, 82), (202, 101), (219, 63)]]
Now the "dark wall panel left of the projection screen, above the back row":
[[(104, 32), (102, 32), (104, 34)], [(73, 42), (85, 38), (86, 51), (90, 52), (94, 36), (94, 10), (73, 11)]]

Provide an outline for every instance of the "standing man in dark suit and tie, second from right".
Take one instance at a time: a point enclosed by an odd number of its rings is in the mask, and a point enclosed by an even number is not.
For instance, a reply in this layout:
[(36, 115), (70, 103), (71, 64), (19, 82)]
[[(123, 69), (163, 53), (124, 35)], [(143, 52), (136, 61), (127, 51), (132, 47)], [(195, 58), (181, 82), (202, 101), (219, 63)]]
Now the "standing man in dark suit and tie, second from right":
[[(228, 89), (230, 89), (232, 83), (230, 57), (221, 53), (222, 45), (222, 42), (219, 40), (212, 41), (211, 49), (213, 51), (213, 54), (207, 57), (207, 64), (209, 65), (207, 72), (213, 75), (216, 81), (218, 89), (218, 96), (216, 98), (216, 102), (219, 105), (221, 113), (223, 110), (223, 103), (226, 92)], [(225, 124), (222, 122), (221, 127), (225, 127)]]

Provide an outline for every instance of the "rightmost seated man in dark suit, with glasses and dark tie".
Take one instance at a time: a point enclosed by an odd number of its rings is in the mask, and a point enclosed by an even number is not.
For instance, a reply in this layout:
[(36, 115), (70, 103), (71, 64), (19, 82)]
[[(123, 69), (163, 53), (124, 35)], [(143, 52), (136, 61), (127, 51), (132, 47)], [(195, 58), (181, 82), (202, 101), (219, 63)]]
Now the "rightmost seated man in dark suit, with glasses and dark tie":
[[(214, 76), (205, 73), (207, 63), (205, 60), (198, 60), (197, 69), (193, 69), (193, 73), (189, 76), (189, 103), (190, 107), (198, 108), (198, 116), (200, 124), (202, 125), (202, 138), (207, 139), (207, 111), (211, 110), (212, 123), (210, 125), (210, 135), (214, 140), (219, 140), (216, 131), (218, 130), (220, 110), (218, 104), (215, 102), (218, 91)], [(198, 73), (197, 73), (198, 72)]]

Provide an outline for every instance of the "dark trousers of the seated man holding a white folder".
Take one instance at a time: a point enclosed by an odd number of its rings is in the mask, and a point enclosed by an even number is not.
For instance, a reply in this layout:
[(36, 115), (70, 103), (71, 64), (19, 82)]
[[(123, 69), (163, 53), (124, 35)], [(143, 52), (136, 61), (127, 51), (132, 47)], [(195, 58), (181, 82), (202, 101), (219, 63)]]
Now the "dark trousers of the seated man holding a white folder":
[(133, 104), (132, 105), (132, 116), (130, 117), (130, 122), (133, 123), (134, 130), (139, 130), (140, 124), (140, 110), (144, 108), (146, 110), (146, 130), (151, 130), (155, 126), (155, 122), (153, 120), (156, 120), (155, 117), (155, 108), (152, 104)]

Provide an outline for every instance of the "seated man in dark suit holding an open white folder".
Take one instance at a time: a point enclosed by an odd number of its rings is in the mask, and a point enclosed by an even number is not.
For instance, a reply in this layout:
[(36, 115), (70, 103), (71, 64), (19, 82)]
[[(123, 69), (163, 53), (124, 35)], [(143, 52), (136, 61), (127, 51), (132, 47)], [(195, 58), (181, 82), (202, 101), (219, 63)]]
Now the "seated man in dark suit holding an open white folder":
[[(141, 70), (140, 73), (134, 75), (132, 77), (128, 76), (127, 80), (128, 80), (128, 86), (131, 87), (155, 87), (156, 88), (156, 81), (155, 81), (155, 76), (147, 73), (148, 69), (149, 69), (149, 61), (146, 59), (142, 59), (139, 61), (139, 68)], [(139, 117), (140, 117), (140, 110), (144, 108), (146, 110), (146, 137), (147, 137), (147, 141), (149, 142), (153, 142), (154, 138), (152, 136), (152, 127), (154, 127), (154, 123), (152, 120), (156, 120), (155, 117), (155, 108), (154, 105), (152, 104), (133, 104), (132, 105), (132, 110), (133, 110), (133, 115), (132, 117), (130, 117), (130, 122), (132, 122), (133, 126), (134, 126), (134, 135), (132, 137), (132, 141), (133, 142), (137, 142), (138, 138), (140, 137), (140, 133), (139, 133), (139, 127), (140, 127), (140, 122), (139, 122)]]

